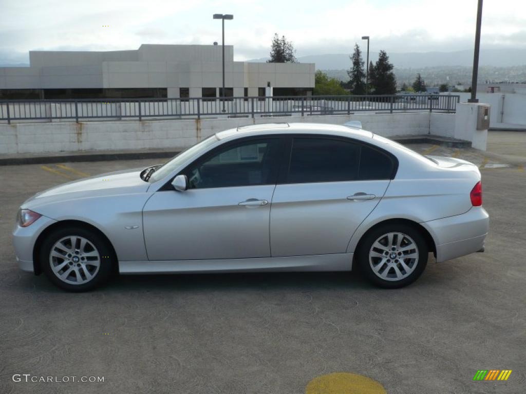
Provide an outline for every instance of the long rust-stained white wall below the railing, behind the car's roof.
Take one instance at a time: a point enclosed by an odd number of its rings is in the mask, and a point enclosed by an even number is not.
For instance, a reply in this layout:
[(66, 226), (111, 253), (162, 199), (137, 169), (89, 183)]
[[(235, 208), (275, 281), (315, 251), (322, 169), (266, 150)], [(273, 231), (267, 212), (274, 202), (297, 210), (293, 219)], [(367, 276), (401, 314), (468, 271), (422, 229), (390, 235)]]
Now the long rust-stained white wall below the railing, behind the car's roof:
[[(437, 119), (431, 122), (431, 119)], [(341, 125), (359, 120), (381, 136), (428, 134), (454, 125), (454, 114), (429, 112), (201, 120), (14, 123), (0, 125), (0, 154), (126, 149), (184, 149), (218, 131), (274, 122)], [(443, 124), (443, 123), (444, 124)], [(453, 126), (451, 126), (453, 127)], [(444, 131), (446, 132), (446, 131)]]

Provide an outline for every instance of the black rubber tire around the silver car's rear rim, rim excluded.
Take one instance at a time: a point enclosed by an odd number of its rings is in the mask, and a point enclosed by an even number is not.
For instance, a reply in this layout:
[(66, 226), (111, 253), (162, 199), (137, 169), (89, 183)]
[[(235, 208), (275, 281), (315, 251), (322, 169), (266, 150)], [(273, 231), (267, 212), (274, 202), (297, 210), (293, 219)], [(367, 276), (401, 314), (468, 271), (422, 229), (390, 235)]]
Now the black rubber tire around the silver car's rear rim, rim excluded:
[[(369, 251), (372, 247), (372, 244), (383, 234), (398, 232), (406, 234), (411, 237), (411, 239), (417, 244), (418, 247), (418, 264), (414, 271), (409, 274), (409, 276), (401, 279), (401, 281), (386, 281), (378, 277), (369, 265)], [(383, 287), (383, 288), (399, 288), (407, 286), (418, 279), (422, 275), (424, 269), (426, 268), (428, 261), (429, 249), (427, 242), (422, 236), (421, 232), (415, 229), (413, 226), (407, 224), (386, 224), (379, 226), (377, 229), (369, 232), (358, 249), (357, 262), (360, 268), (360, 271), (363, 275), (374, 285)]]

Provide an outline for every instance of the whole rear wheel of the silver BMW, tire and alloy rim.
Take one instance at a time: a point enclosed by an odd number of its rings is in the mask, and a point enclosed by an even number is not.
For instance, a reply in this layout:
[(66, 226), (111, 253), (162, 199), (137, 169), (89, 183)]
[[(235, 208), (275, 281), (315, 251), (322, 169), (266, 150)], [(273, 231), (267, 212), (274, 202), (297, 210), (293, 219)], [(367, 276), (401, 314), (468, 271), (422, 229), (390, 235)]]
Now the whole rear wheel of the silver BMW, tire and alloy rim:
[(372, 284), (399, 288), (418, 279), (426, 268), (428, 254), (420, 231), (407, 224), (392, 223), (366, 234), (357, 251), (357, 262)]

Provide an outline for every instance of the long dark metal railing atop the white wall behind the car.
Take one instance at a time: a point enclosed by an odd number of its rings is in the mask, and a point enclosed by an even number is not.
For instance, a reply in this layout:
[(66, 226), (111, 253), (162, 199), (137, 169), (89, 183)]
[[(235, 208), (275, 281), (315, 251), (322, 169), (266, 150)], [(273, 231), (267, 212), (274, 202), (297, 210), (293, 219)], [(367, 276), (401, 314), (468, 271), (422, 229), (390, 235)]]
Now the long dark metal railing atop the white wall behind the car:
[(201, 119), (351, 115), (356, 112), (455, 112), (460, 96), (290, 96), (151, 99), (0, 100), (0, 121)]

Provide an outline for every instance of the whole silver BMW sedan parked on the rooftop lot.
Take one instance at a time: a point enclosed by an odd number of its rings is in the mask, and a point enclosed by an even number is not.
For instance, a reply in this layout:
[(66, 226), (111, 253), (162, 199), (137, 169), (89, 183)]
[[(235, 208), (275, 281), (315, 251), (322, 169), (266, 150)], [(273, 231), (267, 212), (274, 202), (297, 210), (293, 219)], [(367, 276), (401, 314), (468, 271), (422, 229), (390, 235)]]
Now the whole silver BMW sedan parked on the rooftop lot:
[(68, 291), (114, 273), (350, 271), (415, 281), (483, 251), (476, 165), (371, 132), (308, 123), (222, 131), (163, 165), (35, 194), (13, 232), (24, 271)]

